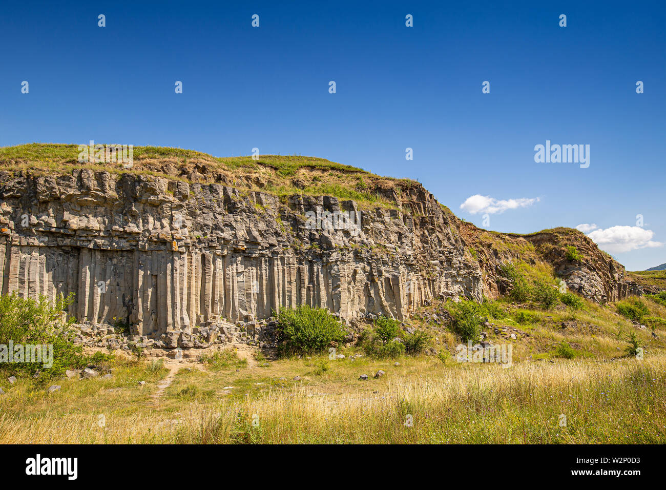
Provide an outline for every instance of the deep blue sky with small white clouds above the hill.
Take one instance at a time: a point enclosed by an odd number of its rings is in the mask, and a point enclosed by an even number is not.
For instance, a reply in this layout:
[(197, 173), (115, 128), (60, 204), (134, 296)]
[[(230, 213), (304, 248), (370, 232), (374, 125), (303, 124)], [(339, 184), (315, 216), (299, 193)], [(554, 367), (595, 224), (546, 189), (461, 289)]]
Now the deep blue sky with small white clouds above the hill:
[[(640, 270), (666, 262), (665, 26), (663, 1), (7, 2), (0, 146), (313, 155), (418, 179), (480, 226), (468, 198), (525, 203), (488, 213), (498, 231), (594, 224)], [(589, 167), (535, 163), (546, 140)]]

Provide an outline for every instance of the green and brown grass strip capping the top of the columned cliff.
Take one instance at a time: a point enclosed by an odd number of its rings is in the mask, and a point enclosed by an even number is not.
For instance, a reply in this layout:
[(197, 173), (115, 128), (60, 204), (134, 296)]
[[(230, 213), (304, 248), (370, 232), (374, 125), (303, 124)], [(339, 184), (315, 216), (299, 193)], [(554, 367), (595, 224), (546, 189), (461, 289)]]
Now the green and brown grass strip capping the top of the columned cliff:
[(361, 205), (392, 208), (397, 205), (396, 195), (420, 186), (410, 179), (380, 177), (351, 165), (301, 155), (259, 155), (255, 160), (250, 155), (213, 157), (187, 149), (137, 146), (133, 149), (132, 168), (125, 169), (119, 161), (81, 163), (79, 153), (79, 145), (29, 143), (2, 147), (0, 168), (60, 174), (86, 168), (155, 175), (274, 195), (332, 195), (358, 201)]

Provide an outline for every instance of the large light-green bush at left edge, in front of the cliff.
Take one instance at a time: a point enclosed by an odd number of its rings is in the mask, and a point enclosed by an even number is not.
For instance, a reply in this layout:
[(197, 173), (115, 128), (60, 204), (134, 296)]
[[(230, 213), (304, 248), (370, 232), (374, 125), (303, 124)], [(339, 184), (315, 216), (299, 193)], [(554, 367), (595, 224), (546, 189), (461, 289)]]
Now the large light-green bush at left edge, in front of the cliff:
[[(65, 311), (73, 300), (73, 293), (56, 301), (55, 305), (45, 297), (39, 300), (23, 299), (16, 293), (1, 296), (0, 343), (7, 347), (0, 355), (7, 356), (7, 359), (0, 362), (0, 371), (23, 377), (39, 373), (40, 379), (47, 380), (62, 376), (66, 369), (85, 367), (87, 358), (82, 354), (83, 349), (73, 343), (71, 323), (74, 319), (65, 320)], [(10, 341), (14, 347), (21, 345), (24, 362), (8, 362)], [(25, 362), (28, 360), (27, 345), (47, 346), (47, 358), (52, 353), (53, 365), (45, 366), (44, 359), (41, 362)], [(43, 349), (39, 350), (43, 353)], [(14, 359), (17, 360), (16, 357)], [(30, 359), (33, 359), (32, 352)]]

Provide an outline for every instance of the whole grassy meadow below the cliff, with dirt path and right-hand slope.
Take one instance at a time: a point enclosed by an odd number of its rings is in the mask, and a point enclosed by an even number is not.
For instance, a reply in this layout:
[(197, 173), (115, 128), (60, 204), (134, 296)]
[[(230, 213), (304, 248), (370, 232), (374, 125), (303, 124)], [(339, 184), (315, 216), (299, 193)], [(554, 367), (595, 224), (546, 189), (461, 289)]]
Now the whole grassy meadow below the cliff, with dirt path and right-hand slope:
[[(495, 305), (506, 317), (494, 325), (511, 326), (516, 310), (534, 315), (517, 329), (529, 337), (509, 340), (510, 367), (458, 363), (444, 330), (433, 330), (440, 355), (395, 359), (356, 357), (358, 347), (340, 350), (344, 359), (268, 358), (244, 345), (182, 361), (108, 355), (111, 378), (59, 379), (53, 393), (31, 378), (1, 381), (0, 443), (666, 443), (663, 325), (638, 329), (637, 359), (615, 331), (631, 325), (617, 305)], [(558, 315), (596, 330), (562, 331)], [(563, 339), (571, 359), (555, 348)]]

